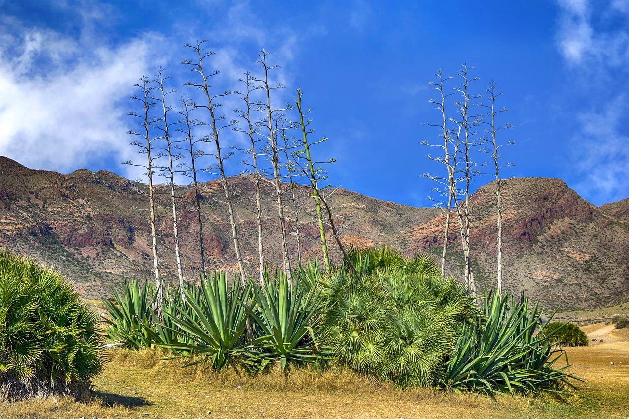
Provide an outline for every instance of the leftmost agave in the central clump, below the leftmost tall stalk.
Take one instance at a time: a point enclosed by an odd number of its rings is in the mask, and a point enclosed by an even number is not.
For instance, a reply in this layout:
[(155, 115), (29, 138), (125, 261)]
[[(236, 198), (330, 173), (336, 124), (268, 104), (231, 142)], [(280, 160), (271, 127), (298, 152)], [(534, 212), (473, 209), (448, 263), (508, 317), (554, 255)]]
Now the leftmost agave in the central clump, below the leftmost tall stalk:
[(152, 304), (155, 301), (153, 286), (148, 281), (140, 285), (138, 279), (125, 282), (122, 293), (112, 288), (113, 297), (103, 300), (108, 316), (105, 332), (109, 339), (123, 342), (130, 349), (150, 347), (153, 343)]

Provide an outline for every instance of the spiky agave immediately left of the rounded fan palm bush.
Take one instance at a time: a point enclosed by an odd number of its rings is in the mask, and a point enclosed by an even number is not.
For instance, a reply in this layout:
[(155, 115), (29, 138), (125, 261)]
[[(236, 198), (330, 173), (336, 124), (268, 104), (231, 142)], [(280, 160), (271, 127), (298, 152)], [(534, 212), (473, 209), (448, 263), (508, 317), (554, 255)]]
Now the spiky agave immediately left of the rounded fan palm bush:
[(250, 354), (260, 360), (279, 359), (282, 371), (295, 362), (321, 359), (312, 328), (320, 308), (320, 293), (306, 293), (303, 289), (308, 286), (300, 284), (303, 276), (294, 278), (293, 287), (283, 272), (267, 277), (264, 287), (255, 286), (255, 306), (250, 310), (260, 335), (252, 342), (260, 350)]

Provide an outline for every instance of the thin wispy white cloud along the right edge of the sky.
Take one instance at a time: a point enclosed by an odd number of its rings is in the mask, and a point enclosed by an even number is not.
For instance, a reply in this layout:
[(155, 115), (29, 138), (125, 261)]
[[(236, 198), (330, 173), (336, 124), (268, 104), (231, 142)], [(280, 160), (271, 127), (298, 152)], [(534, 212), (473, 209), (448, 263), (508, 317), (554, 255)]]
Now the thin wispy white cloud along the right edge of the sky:
[(623, 80), (629, 75), (629, 1), (560, 0), (559, 6), (559, 52), (582, 81), (579, 89), (599, 104), (569, 116), (576, 120), (569, 148), (569, 170), (579, 179), (574, 186), (599, 205), (627, 198), (629, 104)]

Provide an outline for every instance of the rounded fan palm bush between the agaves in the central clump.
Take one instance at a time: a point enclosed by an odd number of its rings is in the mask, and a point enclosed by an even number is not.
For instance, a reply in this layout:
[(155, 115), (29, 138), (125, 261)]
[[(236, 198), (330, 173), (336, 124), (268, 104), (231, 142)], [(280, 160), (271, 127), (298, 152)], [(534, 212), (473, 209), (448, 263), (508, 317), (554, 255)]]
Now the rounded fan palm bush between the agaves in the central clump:
[(426, 255), (381, 247), (348, 257), (321, 279), (319, 331), (334, 359), (396, 386), (431, 384), (461, 324), (477, 313), (473, 299)]

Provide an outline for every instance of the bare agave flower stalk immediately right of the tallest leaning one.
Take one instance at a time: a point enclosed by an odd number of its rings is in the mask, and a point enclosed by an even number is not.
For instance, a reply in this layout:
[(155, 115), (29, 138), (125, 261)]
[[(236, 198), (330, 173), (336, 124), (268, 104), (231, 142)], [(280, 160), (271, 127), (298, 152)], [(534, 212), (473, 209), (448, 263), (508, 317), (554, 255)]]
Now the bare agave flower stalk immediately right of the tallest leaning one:
[(240, 118), (245, 122), (245, 128), (234, 128), (235, 130), (241, 131), (247, 135), (251, 147), (248, 150), (244, 150), (251, 156), (251, 160), (245, 159), (242, 161), (243, 164), (250, 166), (251, 172), (253, 174), (253, 179), (255, 181), (255, 215), (258, 223), (258, 259), (259, 259), (259, 271), (260, 271), (260, 284), (264, 285), (264, 237), (262, 235), (262, 198), (260, 194), (260, 186), (261, 186), (261, 171), (258, 165), (258, 157), (260, 157), (259, 146), (258, 143), (262, 142), (262, 139), (259, 138), (256, 131), (255, 121), (252, 121), (251, 111), (253, 109), (253, 101), (251, 98), (251, 94), (253, 91), (260, 89), (260, 86), (256, 86), (253, 84), (253, 77), (250, 72), (245, 72), (245, 78), (240, 79), (243, 83), (245, 89), (240, 94), (240, 99), (242, 99), (245, 104), (244, 109), (236, 109), (236, 113)]

